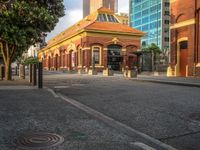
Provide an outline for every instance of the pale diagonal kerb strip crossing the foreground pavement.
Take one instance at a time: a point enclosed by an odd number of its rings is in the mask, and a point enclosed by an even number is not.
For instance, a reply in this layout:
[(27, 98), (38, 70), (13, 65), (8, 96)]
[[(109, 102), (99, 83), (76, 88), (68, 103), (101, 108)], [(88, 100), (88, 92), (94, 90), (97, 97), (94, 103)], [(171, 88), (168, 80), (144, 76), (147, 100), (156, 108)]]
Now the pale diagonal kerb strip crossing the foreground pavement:
[[(54, 92), (54, 94), (56, 94)], [(131, 137), (134, 137), (134, 136), (140, 136), (142, 138), (144, 138), (145, 140), (147, 140), (148, 142), (151, 142), (152, 144), (156, 144), (157, 146), (159, 146), (162, 150), (177, 150), (176, 148), (170, 146), (170, 145), (167, 145), (165, 143), (162, 143), (161, 141), (157, 140), (157, 139), (154, 139), (153, 137), (150, 137), (149, 135), (146, 135), (138, 130), (135, 130), (129, 126), (127, 126), (126, 124), (123, 124), (119, 121), (116, 121), (114, 120), (113, 118), (111, 117), (108, 117), (82, 103), (79, 103), (77, 102), (76, 100), (74, 99), (71, 99), (71, 98), (68, 98), (60, 93), (56, 94), (58, 97), (60, 97), (61, 99), (63, 99), (64, 101), (70, 103), (71, 105), (79, 108), (80, 110), (92, 115), (93, 117), (103, 121), (104, 123), (108, 124), (109, 126), (117, 129), (117, 130), (120, 130), (121, 132), (127, 134), (128, 136), (131, 136)], [(141, 145), (141, 144), (140, 144)]]

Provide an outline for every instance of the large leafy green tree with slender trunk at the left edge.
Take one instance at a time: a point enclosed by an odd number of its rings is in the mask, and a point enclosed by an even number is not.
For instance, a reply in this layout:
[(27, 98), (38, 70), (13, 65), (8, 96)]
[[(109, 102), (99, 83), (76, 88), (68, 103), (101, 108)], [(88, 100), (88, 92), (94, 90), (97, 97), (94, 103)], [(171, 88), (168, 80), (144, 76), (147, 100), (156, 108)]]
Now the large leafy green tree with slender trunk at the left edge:
[[(6, 0), (5, 0), (6, 1)], [(44, 32), (55, 27), (64, 15), (63, 0), (10, 0), (0, 6), (0, 50), (5, 78), (11, 80), (11, 62), (30, 45), (40, 42)]]

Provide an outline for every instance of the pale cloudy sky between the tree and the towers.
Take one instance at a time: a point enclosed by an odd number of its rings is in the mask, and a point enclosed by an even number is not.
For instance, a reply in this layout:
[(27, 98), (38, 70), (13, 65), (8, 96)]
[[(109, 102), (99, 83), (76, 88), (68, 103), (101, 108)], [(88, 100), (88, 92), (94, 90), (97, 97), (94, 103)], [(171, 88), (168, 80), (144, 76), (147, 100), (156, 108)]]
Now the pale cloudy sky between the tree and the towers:
[[(46, 41), (82, 19), (82, 1), (83, 0), (64, 0), (65, 16), (60, 18), (54, 30), (47, 34)], [(129, 0), (118, 0), (118, 12), (128, 13), (128, 3)]]

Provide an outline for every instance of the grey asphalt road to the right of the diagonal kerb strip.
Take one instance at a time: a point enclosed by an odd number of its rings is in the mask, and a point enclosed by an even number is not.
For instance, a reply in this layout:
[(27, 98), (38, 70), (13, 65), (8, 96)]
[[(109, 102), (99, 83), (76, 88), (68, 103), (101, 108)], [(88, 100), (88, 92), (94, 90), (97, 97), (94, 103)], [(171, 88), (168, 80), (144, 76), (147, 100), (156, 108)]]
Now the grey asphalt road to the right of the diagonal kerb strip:
[(200, 90), (121, 76), (47, 75), (45, 86), (180, 150), (200, 149)]

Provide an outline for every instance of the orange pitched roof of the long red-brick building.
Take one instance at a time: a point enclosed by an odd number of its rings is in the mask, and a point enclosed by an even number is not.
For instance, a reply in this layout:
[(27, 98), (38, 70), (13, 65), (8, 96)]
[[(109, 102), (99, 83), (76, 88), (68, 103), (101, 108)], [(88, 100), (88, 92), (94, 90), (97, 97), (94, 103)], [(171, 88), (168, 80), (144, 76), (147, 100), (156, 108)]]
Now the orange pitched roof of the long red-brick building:
[(108, 22), (108, 21), (101, 22), (97, 20), (99, 14), (113, 15), (115, 18), (117, 18), (114, 15), (114, 11), (105, 7), (101, 7), (96, 12), (93, 12), (92, 14), (86, 16), (76, 24), (72, 25), (68, 29), (64, 30), (63, 32), (53, 37), (51, 40), (48, 41), (48, 46), (57, 43), (59, 41), (62, 41), (63, 39), (66, 39), (72, 35), (75, 35), (76, 33), (82, 30), (109, 31), (117, 33), (127, 33), (132, 35), (135, 34), (139, 36), (144, 35), (143, 32), (118, 22)]

